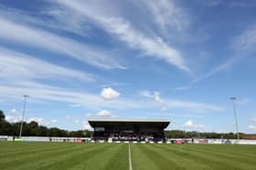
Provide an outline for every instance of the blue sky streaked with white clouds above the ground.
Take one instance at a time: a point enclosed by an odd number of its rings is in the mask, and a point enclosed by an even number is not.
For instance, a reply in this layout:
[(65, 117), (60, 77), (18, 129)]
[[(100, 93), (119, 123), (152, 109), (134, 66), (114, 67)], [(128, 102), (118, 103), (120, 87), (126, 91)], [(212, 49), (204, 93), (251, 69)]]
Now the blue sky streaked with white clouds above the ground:
[(0, 108), (69, 130), (87, 119), (256, 132), (256, 2), (0, 0)]

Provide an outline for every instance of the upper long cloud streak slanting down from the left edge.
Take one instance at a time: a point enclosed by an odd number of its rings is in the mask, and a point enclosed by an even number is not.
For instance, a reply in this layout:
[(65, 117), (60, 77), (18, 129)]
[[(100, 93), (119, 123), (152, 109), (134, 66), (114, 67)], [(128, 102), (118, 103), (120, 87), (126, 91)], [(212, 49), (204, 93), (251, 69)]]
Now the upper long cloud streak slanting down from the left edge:
[(0, 37), (15, 44), (34, 46), (105, 69), (126, 68), (101, 49), (46, 30), (17, 24), (3, 17), (0, 17)]

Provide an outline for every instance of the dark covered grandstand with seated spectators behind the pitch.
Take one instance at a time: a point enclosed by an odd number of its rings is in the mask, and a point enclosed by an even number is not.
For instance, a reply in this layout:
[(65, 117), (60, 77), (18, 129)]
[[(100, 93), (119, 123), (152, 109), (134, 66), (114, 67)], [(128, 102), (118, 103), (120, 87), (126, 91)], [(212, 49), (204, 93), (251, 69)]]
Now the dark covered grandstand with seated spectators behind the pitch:
[(98, 141), (165, 142), (168, 120), (90, 119), (93, 139)]

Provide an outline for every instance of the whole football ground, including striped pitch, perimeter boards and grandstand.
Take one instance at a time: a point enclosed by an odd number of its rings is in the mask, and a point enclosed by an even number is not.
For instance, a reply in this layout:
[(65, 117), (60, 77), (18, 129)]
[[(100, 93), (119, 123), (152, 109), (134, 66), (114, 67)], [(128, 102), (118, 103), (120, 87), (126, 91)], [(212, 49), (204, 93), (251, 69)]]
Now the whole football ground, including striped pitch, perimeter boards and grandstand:
[(0, 168), (255, 169), (256, 140), (168, 139), (168, 120), (88, 121), (91, 138), (1, 136)]

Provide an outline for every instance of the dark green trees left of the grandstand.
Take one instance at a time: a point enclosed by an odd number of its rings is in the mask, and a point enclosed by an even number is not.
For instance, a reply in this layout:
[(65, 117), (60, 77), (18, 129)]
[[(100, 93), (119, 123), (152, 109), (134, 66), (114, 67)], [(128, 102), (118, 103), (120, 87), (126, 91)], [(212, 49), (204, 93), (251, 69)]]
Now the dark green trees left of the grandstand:
[[(5, 114), (0, 110), (0, 135), (19, 135), (21, 122), (9, 123), (5, 120)], [(23, 136), (59, 136), (59, 137), (91, 137), (91, 131), (78, 130), (67, 131), (57, 127), (38, 125), (36, 121), (23, 123)]]

